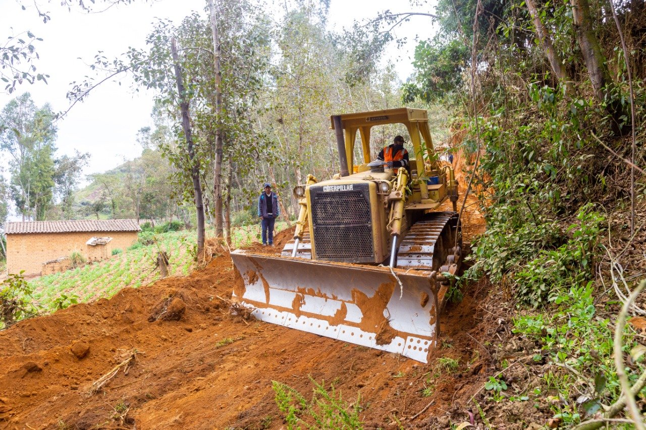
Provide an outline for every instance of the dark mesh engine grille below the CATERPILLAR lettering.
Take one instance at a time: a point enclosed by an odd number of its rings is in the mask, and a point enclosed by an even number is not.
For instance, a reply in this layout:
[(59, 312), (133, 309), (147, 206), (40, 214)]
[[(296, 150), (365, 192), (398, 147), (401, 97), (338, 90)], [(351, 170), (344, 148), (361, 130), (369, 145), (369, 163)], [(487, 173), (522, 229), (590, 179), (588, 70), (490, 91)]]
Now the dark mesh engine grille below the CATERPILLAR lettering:
[[(362, 184), (361, 184), (362, 185)], [(331, 261), (374, 260), (370, 192), (365, 189), (324, 192), (310, 187), (316, 258)], [(361, 187), (361, 188), (364, 188)]]

